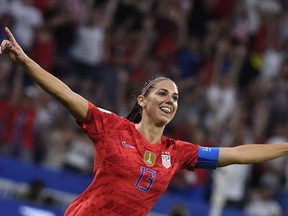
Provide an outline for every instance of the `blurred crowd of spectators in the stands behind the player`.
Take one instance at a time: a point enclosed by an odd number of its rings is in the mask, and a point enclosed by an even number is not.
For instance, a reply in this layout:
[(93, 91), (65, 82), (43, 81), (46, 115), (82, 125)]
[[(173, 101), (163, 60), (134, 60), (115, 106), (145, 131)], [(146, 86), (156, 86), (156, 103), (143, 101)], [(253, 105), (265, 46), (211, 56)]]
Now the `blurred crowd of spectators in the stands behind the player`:
[[(121, 116), (144, 80), (172, 78), (180, 100), (168, 136), (205, 146), (287, 142), (285, 0), (0, 0), (1, 41), (5, 26), (44, 69)], [(3, 56), (0, 153), (93, 172), (93, 146), (74, 119)], [(179, 172), (169, 191), (207, 185), (211, 216), (227, 205), (288, 212), (287, 157)]]

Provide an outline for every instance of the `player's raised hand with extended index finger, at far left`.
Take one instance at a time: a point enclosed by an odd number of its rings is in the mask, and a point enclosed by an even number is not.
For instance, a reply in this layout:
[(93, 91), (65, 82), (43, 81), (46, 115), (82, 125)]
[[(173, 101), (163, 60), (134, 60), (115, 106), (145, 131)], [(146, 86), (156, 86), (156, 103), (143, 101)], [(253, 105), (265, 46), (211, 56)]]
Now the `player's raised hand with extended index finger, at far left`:
[(6, 53), (13, 61), (19, 64), (24, 63), (25, 59), (28, 58), (27, 55), (17, 43), (9, 28), (5, 27), (5, 32), (8, 36), (8, 40), (2, 41), (0, 54)]

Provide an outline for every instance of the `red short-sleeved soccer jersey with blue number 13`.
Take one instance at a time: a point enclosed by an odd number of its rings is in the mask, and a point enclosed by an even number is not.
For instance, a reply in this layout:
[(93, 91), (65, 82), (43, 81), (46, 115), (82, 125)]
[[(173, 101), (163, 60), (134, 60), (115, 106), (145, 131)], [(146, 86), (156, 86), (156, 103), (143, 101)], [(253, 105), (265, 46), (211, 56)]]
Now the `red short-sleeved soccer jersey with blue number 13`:
[(165, 136), (152, 145), (134, 123), (91, 103), (80, 127), (95, 146), (94, 179), (66, 216), (147, 215), (173, 175), (197, 162), (198, 145)]

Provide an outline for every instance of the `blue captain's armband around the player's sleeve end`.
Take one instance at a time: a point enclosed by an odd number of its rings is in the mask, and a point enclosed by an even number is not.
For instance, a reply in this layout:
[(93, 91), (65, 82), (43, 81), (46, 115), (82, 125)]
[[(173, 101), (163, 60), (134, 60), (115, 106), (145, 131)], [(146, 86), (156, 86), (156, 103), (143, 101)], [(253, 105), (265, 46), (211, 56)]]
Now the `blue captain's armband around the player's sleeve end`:
[(195, 168), (202, 169), (216, 169), (219, 158), (218, 147), (203, 147), (200, 146), (198, 149), (198, 160)]

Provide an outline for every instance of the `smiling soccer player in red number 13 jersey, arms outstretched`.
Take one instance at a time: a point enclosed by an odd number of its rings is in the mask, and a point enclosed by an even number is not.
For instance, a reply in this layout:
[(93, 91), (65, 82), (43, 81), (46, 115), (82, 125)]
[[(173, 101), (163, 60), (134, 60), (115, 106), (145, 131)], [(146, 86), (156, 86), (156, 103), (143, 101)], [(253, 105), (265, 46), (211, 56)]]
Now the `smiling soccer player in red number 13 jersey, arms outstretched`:
[(30, 59), (5, 31), (1, 52), (68, 109), (95, 146), (94, 180), (66, 216), (147, 215), (179, 169), (258, 163), (288, 154), (287, 143), (208, 148), (163, 136), (179, 97), (165, 77), (144, 84), (127, 119), (97, 108)]

